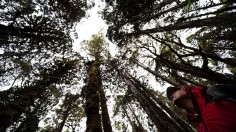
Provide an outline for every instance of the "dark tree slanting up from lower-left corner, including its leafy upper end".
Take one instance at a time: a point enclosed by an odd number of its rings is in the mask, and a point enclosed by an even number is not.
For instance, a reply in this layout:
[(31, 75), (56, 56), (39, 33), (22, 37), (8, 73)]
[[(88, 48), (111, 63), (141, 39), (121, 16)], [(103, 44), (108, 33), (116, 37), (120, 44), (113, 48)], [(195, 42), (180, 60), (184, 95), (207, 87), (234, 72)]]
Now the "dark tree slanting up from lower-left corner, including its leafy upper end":
[(76, 70), (77, 61), (57, 61), (54, 67), (43, 68), (32, 84), (24, 87), (12, 87), (1, 91), (1, 131), (5, 131), (16, 122), (23, 113), (34, 106), (35, 101), (43, 97), (47, 88), (55, 83), (64, 83), (74, 77), (69, 71)]

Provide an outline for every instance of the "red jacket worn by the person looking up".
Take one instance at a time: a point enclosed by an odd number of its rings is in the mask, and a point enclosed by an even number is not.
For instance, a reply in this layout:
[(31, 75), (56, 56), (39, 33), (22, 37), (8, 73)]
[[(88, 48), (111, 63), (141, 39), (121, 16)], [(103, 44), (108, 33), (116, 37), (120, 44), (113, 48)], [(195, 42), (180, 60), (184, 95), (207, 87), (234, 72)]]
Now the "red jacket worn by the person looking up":
[[(233, 132), (236, 131), (236, 104), (227, 100), (205, 103), (205, 90), (202, 87), (180, 86), (188, 94), (194, 96), (199, 111), (208, 132)], [(197, 124), (198, 132), (207, 132), (204, 123), (196, 120), (192, 113), (188, 112), (190, 120)]]

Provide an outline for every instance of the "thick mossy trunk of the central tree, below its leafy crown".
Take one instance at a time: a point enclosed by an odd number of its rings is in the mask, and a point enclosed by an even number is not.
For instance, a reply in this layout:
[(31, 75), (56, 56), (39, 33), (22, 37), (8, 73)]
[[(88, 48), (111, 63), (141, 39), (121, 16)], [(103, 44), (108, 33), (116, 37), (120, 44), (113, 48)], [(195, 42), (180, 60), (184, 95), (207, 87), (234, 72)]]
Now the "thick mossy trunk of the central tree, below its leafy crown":
[(102, 132), (99, 114), (99, 61), (92, 61), (88, 69), (88, 84), (85, 92), (85, 113), (87, 115), (86, 132)]

